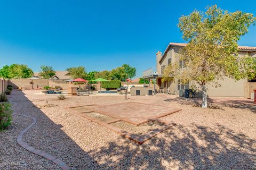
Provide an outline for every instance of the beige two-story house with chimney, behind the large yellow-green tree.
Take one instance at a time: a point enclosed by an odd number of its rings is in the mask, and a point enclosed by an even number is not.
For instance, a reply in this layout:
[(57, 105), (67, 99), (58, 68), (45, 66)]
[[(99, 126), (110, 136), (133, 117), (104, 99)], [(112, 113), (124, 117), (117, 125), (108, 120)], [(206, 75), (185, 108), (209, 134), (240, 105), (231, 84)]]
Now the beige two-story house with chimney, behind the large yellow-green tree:
[[(179, 81), (176, 83), (171, 81), (162, 82), (162, 77), (164, 69), (167, 65), (174, 63), (174, 61), (179, 60), (178, 53), (179, 49), (185, 47), (185, 43), (170, 43), (165, 49), (163, 55), (161, 52), (156, 53), (156, 71), (158, 75), (156, 77), (157, 88), (160, 89), (170, 89), (171, 94), (179, 94), (180, 89), (189, 89), (188, 84), (180, 84)], [(247, 47), (247, 46), (238, 46), (239, 53), (238, 55), (249, 55), (256, 57), (256, 47)], [(180, 66), (184, 67), (184, 63), (180, 61)], [(143, 72), (143, 78), (153, 79), (152, 75), (153, 69), (148, 69)], [(247, 79), (235, 81), (230, 78), (226, 78), (219, 82), (221, 87), (215, 88), (209, 86), (208, 95), (209, 97), (244, 97), (245, 95), (245, 86)]]

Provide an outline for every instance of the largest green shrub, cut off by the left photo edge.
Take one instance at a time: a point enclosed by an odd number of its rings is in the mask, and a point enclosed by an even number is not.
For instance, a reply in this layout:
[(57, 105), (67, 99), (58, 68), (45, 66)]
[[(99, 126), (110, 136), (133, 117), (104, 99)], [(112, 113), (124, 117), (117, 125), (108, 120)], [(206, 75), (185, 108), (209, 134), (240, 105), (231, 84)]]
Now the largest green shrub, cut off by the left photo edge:
[(0, 131), (6, 129), (12, 122), (12, 110), (10, 103), (0, 104)]

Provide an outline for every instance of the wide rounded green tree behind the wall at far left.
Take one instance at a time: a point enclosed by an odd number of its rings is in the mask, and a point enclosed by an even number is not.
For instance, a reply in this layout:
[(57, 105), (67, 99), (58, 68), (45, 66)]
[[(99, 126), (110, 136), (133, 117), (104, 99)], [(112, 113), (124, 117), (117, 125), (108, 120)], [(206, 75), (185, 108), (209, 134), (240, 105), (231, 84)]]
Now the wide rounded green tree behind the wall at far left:
[(25, 64), (12, 64), (9, 67), (9, 78), (11, 79), (26, 79), (33, 75), (33, 70), (31, 70)]

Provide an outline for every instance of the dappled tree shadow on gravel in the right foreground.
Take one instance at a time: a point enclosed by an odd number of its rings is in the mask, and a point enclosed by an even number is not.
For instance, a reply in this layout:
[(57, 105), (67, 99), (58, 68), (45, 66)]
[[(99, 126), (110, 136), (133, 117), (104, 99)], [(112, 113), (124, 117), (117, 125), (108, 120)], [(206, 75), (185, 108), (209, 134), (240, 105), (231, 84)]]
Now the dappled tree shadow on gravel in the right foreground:
[[(217, 125), (177, 125), (142, 146), (127, 140), (91, 150), (102, 169), (254, 169), (255, 140)], [(164, 137), (163, 137), (164, 136)]]

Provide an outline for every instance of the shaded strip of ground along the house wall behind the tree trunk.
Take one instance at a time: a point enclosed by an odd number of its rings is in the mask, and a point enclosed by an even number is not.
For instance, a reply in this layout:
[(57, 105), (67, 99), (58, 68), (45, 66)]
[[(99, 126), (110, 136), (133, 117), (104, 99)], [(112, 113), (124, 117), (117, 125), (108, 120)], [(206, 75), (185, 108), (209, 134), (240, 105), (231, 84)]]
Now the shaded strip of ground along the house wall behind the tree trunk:
[[(201, 98), (171, 98), (165, 99), (164, 101), (171, 102), (177, 101), (180, 104), (191, 105), (196, 107), (201, 107)], [(253, 104), (253, 100), (247, 99), (207, 99), (207, 105), (213, 109), (222, 109), (223, 106), (230, 108), (246, 109), (253, 113), (256, 113), (256, 104)], [(223, 110), (223, 109), (222, 109)]]

